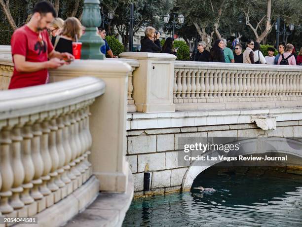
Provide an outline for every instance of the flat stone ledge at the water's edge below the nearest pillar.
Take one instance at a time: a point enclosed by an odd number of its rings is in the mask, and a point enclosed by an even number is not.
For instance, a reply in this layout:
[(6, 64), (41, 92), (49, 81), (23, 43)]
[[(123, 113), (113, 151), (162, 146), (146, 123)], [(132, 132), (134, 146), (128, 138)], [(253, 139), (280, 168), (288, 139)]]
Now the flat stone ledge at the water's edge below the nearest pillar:
[(133, 198), (133, 177), (128, 169), (125, 193), (100, 192), (96, 200), (65, 227), (120, 227)]

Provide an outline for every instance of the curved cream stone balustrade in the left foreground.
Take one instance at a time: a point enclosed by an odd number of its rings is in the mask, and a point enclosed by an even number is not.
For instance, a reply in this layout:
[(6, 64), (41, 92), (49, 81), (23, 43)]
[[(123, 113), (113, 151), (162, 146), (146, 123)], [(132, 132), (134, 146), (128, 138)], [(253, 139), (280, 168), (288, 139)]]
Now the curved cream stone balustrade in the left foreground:
[(91, 177), (89, 106), (104, 91), (94, 77), (0, 91), (2, 215), (35, 216)]

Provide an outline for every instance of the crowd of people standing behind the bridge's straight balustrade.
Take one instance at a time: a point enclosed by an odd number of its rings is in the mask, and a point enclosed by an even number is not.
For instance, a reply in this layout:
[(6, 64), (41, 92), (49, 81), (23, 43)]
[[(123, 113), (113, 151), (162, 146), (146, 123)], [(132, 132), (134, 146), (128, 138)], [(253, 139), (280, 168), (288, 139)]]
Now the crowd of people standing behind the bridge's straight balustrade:
[[(164, 45), (161, 47), (159, 41), (159, 32), (152, 27), (145, 30), (145, 38), (141, 40), (141, 52), (169, 53), (177, 54), (178, 48), (173, 48), (174, 38), (166, 38)], [(197, 53), (194, 61), (201, 62), (225, 62), (225, 63), (244, 63), (244, 64), (269, 64), (269, 65), (302, 65), (302, 48), (299, 54), (293, 44), (281, 43), (279, 45), (279, 53), (274, 56), (275, 49), (267, 48), (267, 53), (262, 53), (260, 43), (252, 39), (248, 39), (243, 50), (243, 45), (238, 38), (234, 38), (231, 44), (232, 49), (227, 47), (225, 38), (214, 41), (213, 46), (208, 51), (208, 45), (204, 41), (197, 43)], [(234, 51), (234, 52), (233, 52)], [(264, 54), (267, 56), (264, 57)]]

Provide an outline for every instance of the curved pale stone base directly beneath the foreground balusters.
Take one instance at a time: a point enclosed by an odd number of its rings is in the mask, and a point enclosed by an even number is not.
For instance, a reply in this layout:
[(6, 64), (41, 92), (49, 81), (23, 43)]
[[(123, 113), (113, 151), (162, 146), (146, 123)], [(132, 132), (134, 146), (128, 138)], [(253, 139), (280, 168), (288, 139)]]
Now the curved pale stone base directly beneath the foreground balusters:
[[(39, 227), (59, 227), (72, 219), (80, 208), (84, 209), (91, 204), (99, 193), (100, 182), (92, 176), (85, 184), (76, 189), (58, 203), (38, 213)], [(88, 193), (89, 192), (89, 193)], [(32, 227), (33, 225), (16, 225), (16, 227)]]

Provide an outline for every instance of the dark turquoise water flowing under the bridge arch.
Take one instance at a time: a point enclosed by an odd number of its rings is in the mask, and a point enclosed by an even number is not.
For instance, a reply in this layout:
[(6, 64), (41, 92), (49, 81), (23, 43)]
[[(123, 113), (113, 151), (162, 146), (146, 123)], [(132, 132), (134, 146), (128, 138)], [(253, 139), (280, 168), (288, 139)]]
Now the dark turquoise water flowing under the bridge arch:
[(302, 227), (302, 176), (266, 171), (218, 175), (210, 168), (190, 192), (133, 200), (123, 227)]

